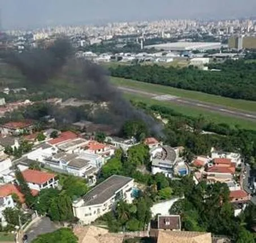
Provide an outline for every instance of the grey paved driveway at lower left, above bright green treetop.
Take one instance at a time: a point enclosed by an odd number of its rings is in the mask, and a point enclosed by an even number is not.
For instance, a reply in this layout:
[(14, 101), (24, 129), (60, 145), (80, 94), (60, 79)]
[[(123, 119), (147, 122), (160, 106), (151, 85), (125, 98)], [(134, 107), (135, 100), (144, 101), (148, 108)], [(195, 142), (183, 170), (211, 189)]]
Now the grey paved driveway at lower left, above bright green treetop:
[(51, 222), (48, 217), (41, 218), (36, 223), (31, 225), (30, 228), (27, 230), (28, 235), (28, 243), (30, 243), (34, 238), (38, 235), (42, 235), (44, 233), (50, 233), (58, 229), (58, 226)]

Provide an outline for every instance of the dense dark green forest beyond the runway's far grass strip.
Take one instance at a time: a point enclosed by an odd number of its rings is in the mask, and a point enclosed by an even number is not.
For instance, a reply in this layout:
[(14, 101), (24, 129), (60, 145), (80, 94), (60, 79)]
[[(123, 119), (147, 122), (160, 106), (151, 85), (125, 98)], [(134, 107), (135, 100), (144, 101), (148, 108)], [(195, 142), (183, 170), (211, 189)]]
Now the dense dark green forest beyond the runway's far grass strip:
[(225, 63), (211, 64), (209, 68), (222, 71), (202, 71), (194, 67), (180, 69), (159, 65), (117, 66), (109, 70), (111, 76), (115, 77), (256, 101), (256, 63), (227, 60)]

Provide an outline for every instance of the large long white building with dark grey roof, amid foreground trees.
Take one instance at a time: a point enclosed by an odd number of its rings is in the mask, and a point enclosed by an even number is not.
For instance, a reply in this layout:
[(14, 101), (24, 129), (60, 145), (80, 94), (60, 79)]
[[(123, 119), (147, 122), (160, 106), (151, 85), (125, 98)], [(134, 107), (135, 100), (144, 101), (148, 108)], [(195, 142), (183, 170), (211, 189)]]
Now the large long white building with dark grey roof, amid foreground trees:
[(112, 175), (95, 186), (84, 197), (73, 202), (73, 214), (84, 224), (90, 224), (111, 211), (118, 201), (132, 203), (133, 186), (132, 178)]

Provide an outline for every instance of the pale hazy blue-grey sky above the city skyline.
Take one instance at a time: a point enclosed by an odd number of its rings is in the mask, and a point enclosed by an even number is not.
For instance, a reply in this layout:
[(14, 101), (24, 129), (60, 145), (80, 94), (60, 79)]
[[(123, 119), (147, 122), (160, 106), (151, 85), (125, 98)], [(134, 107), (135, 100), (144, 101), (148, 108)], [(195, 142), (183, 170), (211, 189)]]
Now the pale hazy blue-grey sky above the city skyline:
[(256, 0), (0, 0), (2, 27), (86, 24), (105, 21), (241, 18)]

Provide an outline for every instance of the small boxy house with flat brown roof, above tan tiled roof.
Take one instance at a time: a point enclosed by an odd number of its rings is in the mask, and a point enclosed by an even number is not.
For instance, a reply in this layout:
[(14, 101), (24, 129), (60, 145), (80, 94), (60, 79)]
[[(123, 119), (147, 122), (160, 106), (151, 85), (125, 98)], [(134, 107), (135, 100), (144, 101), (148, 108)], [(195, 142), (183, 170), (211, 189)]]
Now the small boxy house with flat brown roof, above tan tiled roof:
[(158, 215), (158, 229), (165, 229), (169, 231), (180, 231), (181, 221), (180, 215)]

